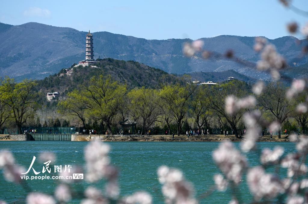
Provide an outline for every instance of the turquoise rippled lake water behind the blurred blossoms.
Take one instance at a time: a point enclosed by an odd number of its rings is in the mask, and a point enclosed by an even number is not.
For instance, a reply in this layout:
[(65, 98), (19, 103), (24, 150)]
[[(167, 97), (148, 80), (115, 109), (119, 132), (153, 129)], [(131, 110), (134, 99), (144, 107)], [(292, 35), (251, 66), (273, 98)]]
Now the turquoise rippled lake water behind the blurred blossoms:
[[(213, 159), (212, 152), (219, 142), (106, 142), (111, 146), (111, 162), (120, 169), (121, 196), (130, 195), (136, 191), (148, 191), (152, 194), (153, 203), (164, 203), (161, 193), (161, 185), (158, 182), (156, 170), (161, 165), (179, 168), (184, 172), (185, 178), (193, 183), (196, 197), (213, 186), (213, 175), (219, 172)], [(33, 156), (39, 157), (43, 151), (54, 152), (57, 156), (56, 165), (84, 165), (83, 150), (87, 142), (70, 141), (0, 141), (0, 149), (9, 149), (13, 152), (17, 163), (26, 170), (29, 168)], [(239, 148), (240, 143), (233, 143)], [(274, 148), (279, 145), (285, 152), (295, 149), (293, 143), (259, 142), (258, 147)], [(250, 152), (247, 155), (250, 166), (256, 166), (259, 162), (260, 151)], [(42, 171), (43, 164), (38, 160), (34, 163), (36, 171)], [(52, 169), (50, 175), (56, 175)], [(272, 171), (269, 169), (268, 171)], [(46, 174), (47, 172), (45, 172)], [(41, 173), (42, 174), (42, 173)], [(34, 175), (30, 171), (28, 175)], [(280, 176), (285, 175), (285, 171)], [(285, 177), (285, 176), (284, 176)], [(245, 177), (243, 178), (245, 180)], [(27, 181), (32, 191), (40, 191), (51, 194), (60, 183), (59, 180), (32, 180)], [(94, 186), (102, 189), (104, 181)], [(75, 191), (83, 191), (89, 184), (76, 183)], [(24, 203), (26, 192), (20, 185), (4, 180), (0, 170), (0, 199), (8, 203)], [(241, 184), (239, 191), (242, 193), (243, 202), (251, 201), (246, 184)], [(200, 203), (228, 203), (231, 200), (230, 191), (214, 192)], [(70, 203), (79, 203), (75, 199)]]

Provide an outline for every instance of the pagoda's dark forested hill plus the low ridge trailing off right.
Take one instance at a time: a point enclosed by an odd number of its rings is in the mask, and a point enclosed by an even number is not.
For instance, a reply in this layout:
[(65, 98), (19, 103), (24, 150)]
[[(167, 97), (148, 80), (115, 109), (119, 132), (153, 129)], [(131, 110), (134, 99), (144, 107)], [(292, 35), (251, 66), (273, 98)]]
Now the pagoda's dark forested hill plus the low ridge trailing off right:
[[(74, 67), (72, 68), (73, 73), (71, 75), (64, 74), (63, 76), (60, 76), (61, 73), (67, 72), (65, 69), (62, 69), (55, 75), (50, 75), (45, 79), (38, 80), (38, 90), (44, 94), (47, 92), (58, 91), (60, 92), (60, 96), (63, 97), (67, 92), (78, 88), (80, 85), (87, 84), (91, 77), (99, 75), (110, 75), (121, 84), (126, 84), (128, 89), (143, 86), (146, 88), (158, 88), (162, 84), (175, 82), (183, 76), (192, 81), (200, 80), (202, 82), (223, 82), (229, 76), (250, 83), (255, 81), (255, 79), (241, 75), (233, 70), (222, 72), (193, 72), (191, 74), (173, 75), (160, 69), (140, 64), (139, 62), (115, 60), (111, 58), (99, 59), (99, 63), (95, 65), (97, 67)], [(45, 99), (45, 96), (43, 96), (43, 98)]]

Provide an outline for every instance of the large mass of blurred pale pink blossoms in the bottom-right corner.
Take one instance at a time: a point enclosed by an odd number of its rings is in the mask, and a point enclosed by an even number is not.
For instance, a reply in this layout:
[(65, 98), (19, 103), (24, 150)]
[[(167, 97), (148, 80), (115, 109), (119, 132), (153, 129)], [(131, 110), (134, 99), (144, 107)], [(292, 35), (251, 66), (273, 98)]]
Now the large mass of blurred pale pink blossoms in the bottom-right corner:
[[(244, 140), (241, 143), (245, 142)], [(231, 142), (222, 142), (213, 152), (213, 159), (223, 173), (223, 175), (214, 175), (216, 189), (226, 191), (230, 185), (237, 186), (242, 181), (243, 172), (247, 171), (247, 184), (255, 201), (274, 199), (285, 194), (289, 204), (306, 203), (308, 197), (306, 194), (302, 196), (301, 192), (306, 192), (302, 190), (308, 188), (308, 179), (301, 179), (300, 176), (308, 172), (308, 167), (305, 165), (308, 138), (300, 136), (296, 148), (298, 153), (292, 152), (285, 157), (283, 157), (284, 149), (281, 147), (275, 147), (273, 150), (264, 148), (260, 156), (262, 166), (249, 167), (246, 158), (234, 148)], [(287, 177), (280, 178), (275, 173), (266, 173), (265, 169), (268, 165), (287, 168)], [(231, 202), (238, 203), (237, 199)]]

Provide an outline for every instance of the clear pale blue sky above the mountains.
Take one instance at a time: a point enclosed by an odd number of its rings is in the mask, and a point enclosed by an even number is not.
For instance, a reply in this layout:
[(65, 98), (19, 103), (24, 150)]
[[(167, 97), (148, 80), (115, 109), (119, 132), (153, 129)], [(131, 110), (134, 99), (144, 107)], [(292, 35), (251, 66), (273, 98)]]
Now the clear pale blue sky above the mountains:
[[(195, 40), (224, 34), (274, 39), (290, 35), (287, 23), (297, 21), (302, 27), (308, 22), (308, 17), (286, 9), (278, 0), (0, 0), (0, 3), (2, 23), (39, 22), (146, 39)], [(293, 0), (293, 4), (308, 10), (307, 0)]]

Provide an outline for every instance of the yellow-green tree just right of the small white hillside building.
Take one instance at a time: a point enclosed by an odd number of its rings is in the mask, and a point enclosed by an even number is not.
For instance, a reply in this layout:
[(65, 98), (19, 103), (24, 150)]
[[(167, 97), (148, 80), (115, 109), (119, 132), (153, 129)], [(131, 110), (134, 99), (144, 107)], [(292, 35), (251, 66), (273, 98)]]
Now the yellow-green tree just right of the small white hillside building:
[(85, 111), (87, 110), (87, 98), (79, 90), (73, 90), (67, 94), (64, 101), (59, 101), (59, 113), (78, 117), (83, 124), (83, 129), (86, 128)]

